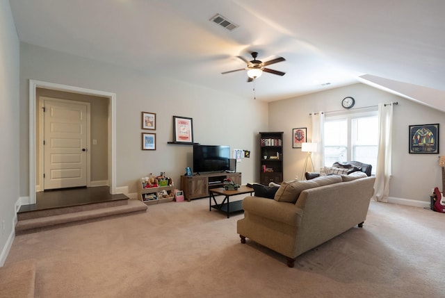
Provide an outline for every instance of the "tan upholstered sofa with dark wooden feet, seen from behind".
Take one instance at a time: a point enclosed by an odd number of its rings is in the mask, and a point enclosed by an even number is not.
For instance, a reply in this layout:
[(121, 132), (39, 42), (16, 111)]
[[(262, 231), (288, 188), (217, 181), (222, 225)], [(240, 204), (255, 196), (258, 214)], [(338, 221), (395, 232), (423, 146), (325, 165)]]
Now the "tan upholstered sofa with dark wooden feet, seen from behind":
[(273, 249), (286, 256), (287, 265), (293, 267), (296, 257), (305, 251), (355, 225), (362, 227), (375, 177), (354, 176), (360, 174), (284, 182), (275, 199), (245, 197), (244, 218), (236, 228), (241, 243), (249, 238)]

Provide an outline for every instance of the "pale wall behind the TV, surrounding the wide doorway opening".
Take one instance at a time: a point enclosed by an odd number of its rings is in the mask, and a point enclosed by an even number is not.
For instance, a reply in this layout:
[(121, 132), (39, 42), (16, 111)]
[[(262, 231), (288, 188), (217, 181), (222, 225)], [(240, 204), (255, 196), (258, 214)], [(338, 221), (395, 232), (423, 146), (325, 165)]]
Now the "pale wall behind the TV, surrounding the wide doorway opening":
[[(192, 147), (172, 141), (172, 117), (193, 118), (195, 142), (246, 149), (251, 158), (238, 163), (243, 183), (257, 181), (257, 135), (268, 129), (268, 105), (191, 85), (157, 74), (100, 63), (58, 51), (21, 44), (20, 53), (20, 195), (29, 195), (29, 80), (70, 85), (116, 94), (116, 184), (136, 193), (136, 181), (165, 172), (179, 187), (192, 166)], [(156, 113), (156, 150), (141, 150), (141, 112)]]

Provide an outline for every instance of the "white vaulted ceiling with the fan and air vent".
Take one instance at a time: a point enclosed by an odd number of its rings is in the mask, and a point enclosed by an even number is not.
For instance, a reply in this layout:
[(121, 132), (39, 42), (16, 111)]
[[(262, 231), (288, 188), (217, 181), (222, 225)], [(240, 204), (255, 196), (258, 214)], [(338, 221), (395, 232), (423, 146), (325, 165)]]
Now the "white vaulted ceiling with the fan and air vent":
[[(378, 83), (445, 111), (443, 0), (10, 0), (22, 42), (274, 101)], [(210, 22), (219, 13), (239, 27)], [(286, 61), (247, 83), (243, 56)], [(362, 76), (362, 78), (359, 78)], [(330, 85), (322, 85), (330, 83)], [(408, 86), (408, 88), (406, 88)], [(422, 86), (422, 87), (421, 87)], [(399, 89), (399, 90), (398, 90)], [(413, 93), (413, 90), (417, 92)], [(421, 92), (419, 92), (421, 90)], [(420, 93), (420, 94), (419, 94)]]

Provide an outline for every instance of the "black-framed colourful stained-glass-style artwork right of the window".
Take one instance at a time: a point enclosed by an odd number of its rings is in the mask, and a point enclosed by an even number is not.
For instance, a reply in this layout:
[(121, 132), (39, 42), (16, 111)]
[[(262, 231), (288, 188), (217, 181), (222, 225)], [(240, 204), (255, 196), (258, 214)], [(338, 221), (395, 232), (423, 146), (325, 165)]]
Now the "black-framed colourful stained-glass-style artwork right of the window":
[(410, 125), (410, 153), (439, 154), (439, 124)]

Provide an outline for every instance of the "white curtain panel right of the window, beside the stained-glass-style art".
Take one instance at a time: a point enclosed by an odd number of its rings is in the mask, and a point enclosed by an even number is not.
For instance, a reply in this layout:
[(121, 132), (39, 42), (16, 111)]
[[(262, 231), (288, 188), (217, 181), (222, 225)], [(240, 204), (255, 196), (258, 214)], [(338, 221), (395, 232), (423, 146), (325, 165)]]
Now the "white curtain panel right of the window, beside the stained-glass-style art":
[(389, 179), (391, 179), (392, 151), (392, 104), (378, 105), (379, 140), (377, 169), (375, 171), (374, 196), (375, 201), (387, 201), (389, 196)]

